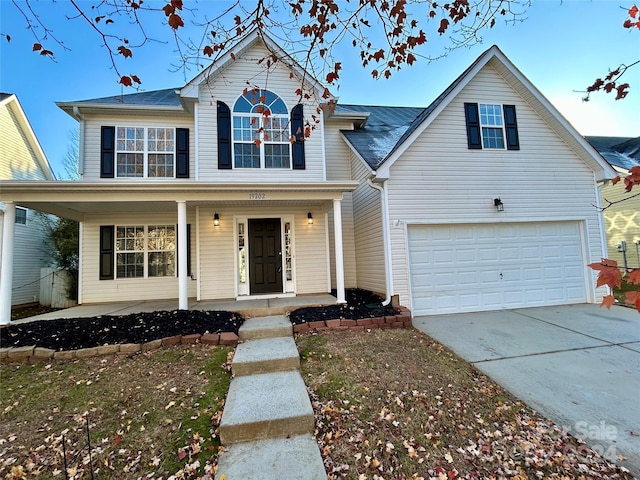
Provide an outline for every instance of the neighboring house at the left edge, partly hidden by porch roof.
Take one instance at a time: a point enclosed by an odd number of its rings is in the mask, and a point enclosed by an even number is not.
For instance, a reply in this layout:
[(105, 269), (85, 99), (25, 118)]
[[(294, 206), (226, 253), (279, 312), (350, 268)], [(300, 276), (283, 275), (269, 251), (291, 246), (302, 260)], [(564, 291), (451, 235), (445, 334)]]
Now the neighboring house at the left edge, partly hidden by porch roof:
[[(54, 180), (51, 167), (22, 110), (18, 97), (0, 93), (0, 180)], [(5, 205), (0, 203), (0, 246)], [(40, 294), (40, 268), (51, 263), (46, 247), (46, 217), (24, 207), (15, 209), (11, 305), (32, 303)], [(0, 248), (0, 269), (6, 259)]]

